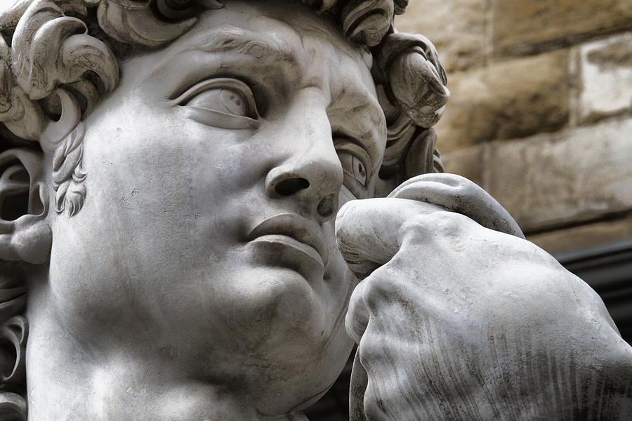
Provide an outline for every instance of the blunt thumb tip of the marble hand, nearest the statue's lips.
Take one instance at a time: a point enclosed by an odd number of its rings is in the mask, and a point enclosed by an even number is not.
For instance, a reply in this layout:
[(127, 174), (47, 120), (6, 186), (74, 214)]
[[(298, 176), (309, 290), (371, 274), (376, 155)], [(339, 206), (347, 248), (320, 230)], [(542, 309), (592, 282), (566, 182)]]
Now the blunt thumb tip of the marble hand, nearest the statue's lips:
[(338, 211), (336, 239), (345, 262), (364, 279), (400, 248), (400, 227), (419, 215), (442, 210), (407, 199), (354, 200)]

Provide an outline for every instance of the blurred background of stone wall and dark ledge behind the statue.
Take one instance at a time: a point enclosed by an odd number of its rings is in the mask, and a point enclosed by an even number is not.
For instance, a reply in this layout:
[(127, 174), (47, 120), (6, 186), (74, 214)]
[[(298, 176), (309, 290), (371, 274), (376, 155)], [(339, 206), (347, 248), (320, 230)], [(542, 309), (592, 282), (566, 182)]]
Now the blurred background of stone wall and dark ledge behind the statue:
[[(632, 0), (410, 0), (452, 93), (446, 171), (593, 286), (632, 342)], [(348, 420), (350, 362), (310, 411)]]

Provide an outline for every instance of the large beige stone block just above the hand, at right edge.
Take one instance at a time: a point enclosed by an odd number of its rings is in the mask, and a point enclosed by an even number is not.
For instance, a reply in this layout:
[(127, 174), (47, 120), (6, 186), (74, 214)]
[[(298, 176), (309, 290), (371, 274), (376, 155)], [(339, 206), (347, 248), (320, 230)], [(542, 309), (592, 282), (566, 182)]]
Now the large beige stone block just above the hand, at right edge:
[(493, 142), (483, 186), (525, 232), (632, 210), (632, 119)]

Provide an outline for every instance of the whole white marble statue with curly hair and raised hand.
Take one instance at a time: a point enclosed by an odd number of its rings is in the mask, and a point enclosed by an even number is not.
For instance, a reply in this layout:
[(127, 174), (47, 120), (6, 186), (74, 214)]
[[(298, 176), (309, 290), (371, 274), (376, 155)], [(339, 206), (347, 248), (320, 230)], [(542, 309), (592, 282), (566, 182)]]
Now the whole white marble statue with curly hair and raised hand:
[[(629, 420), (632, 349), (442, 173), (406, 0), (4, 0), (0, 420)], [(358, 200), (360, 199), (360, 200)]]

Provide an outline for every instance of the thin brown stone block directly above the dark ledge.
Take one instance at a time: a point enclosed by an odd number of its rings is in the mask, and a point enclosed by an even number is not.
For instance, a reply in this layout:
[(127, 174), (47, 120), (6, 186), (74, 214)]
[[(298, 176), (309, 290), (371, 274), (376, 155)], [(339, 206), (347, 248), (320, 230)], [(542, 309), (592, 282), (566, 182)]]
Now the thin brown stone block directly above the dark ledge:
[(527, 236), (548, 253), (577, 250), (632, 238), (632, 215)]

